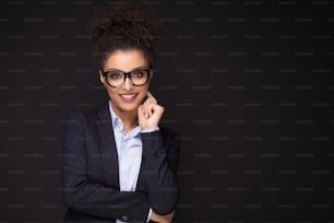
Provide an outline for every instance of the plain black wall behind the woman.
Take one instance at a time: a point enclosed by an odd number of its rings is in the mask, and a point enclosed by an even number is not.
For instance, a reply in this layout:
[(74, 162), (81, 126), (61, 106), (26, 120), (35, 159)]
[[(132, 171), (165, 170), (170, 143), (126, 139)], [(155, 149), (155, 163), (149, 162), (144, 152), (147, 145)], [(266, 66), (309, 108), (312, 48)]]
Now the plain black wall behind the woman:
[[(103, 1), (1, 1), (0, 222), (59, 222), (70, 110), (106, 102), (86, 23)], [(332, 1), (146, 1), (152, 91), (181, 136), (176, 222), (334, 221)]]

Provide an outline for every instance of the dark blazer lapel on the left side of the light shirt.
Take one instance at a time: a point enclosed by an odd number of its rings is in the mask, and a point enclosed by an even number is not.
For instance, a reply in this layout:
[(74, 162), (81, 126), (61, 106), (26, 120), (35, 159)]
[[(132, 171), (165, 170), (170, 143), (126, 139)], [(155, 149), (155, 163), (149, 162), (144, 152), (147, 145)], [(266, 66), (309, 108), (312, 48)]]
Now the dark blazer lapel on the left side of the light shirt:
[[(112, 175), (114, 184), (119, 189), (118, 154), (112, 131), (109, 103), (97, 110), (97, 131), (102, 142), (102, 155), (108, 162), (108, 174)], [(104, 159), (103, 159), (104, 160)]]

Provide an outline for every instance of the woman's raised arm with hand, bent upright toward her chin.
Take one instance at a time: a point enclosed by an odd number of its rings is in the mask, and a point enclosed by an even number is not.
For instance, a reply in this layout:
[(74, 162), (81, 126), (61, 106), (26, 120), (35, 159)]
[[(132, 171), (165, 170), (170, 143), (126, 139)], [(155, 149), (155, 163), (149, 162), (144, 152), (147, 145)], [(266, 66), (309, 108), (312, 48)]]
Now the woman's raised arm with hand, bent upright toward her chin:
[(177, 137), (158, 124), (164, 107), (148, 92), (146, 101), (139, 107), (139, 124), (143, 129), (143, 174), (148, 189), (148, 201), (154, 212), (160, 215), (175, 211), (178, 201), (177, 168), (179, 141)]

